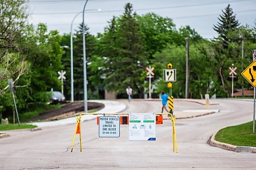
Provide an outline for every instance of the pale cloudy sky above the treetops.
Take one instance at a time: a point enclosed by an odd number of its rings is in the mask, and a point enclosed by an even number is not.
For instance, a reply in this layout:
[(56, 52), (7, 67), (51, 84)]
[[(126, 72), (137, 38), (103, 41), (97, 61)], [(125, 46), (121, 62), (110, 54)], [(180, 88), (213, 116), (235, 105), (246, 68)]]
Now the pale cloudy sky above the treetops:
[[(75, 15), (83, 10), (85, 0), (30, 0), (29, 23), (46, 23), (48, 30), (57, 30), (60, 34), (70, 33)], [(236, 14), (241, 25), (255, 26), (256, 0), (88, 0), (84, 22), (90, 33), (103, 33), (113, 16), (120, 16), (126, 3), (133, 5), (139, 15), (154, 12), (162, 17), (172, 18), (176, 28), (190, 26), (203, 38), (217, 37), (212, 29), (218, 22), (228, 4)], [(98, 11), (100, 9), (100, 11)], [(82, 22), (82, 14), (77, 15), (73, 30)]]

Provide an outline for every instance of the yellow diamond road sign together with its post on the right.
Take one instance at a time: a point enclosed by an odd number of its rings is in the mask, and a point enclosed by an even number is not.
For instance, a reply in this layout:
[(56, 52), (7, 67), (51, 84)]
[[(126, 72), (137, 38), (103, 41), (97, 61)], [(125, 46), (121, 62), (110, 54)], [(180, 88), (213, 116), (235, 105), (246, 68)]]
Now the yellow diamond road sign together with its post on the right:
[[(253, 52), (254, 52), (254, 50), (253, 50)], [(255, 50), (254, 54), (256, 54), (256, 50)], [(255, 131), (256, 60), (253, 60), (253, 62), (247, 68), (245, 68), (245, 70), (241, 74), (254, 87), (254, 91), (253, 91), (253, 125), (252, 125), (252, 134), (254, 134), (254, 131)]]

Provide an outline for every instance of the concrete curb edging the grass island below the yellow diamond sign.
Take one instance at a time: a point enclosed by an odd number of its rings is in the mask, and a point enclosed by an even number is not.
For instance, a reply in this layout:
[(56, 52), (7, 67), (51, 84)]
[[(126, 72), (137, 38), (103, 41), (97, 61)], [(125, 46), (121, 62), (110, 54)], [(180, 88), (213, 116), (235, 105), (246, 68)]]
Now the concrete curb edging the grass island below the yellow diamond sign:
[[(221, 129), (220, 129), (221, 130)], [(219, 131), (220, 131), (219, 130)], [(218, 131), (218, 132), (219, 132)], [(247, 152), (247, 153), (256, 153), (256, 148), (253, 147), (243, 147), (243, 146), (236, 146), (236, 145), (232, 145), (232, 144), (228, 144), (228, 143), (223, 143), (223, 142), (219, 142), (217, 140), (215, 140), (215, 136), (218, 133), (214, 133), (210, 140), (209, 140), (209, 144), (213, 147), (218, 147), (218, 148), (222, 148), (228, 151), (233, 151), (233, 152)]]

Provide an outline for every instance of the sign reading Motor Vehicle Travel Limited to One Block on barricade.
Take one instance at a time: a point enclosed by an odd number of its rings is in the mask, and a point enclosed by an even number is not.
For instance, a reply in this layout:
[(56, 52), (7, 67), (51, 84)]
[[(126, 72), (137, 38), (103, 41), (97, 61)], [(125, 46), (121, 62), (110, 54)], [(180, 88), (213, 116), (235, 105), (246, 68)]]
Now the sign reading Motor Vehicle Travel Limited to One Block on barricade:
[(120, 137), (120, 117), (100, 116), (99, 137)]

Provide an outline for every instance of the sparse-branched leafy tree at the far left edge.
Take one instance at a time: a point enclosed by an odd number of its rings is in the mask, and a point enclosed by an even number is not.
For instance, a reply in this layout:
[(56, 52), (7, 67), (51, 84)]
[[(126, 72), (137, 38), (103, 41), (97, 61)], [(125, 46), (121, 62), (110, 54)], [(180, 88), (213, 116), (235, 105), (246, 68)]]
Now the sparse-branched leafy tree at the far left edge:
[(27, 19), (24, 2), (24, 0), (0, 2), (0, 95), (7, 90), (8, 78), (13, 78), (16, 84), (28, 71), (25, 56), (18, 54), (23, 50), (20, 41)]

